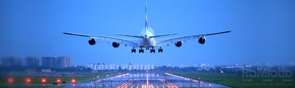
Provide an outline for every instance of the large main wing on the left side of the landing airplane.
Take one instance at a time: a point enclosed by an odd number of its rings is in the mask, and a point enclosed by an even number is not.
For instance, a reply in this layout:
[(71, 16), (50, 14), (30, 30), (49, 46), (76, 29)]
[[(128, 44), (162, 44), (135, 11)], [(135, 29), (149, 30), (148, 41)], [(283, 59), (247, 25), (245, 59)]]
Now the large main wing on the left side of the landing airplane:
[(98, 40), (105, 40), (105, 41), (108, 41), (108, 42), (117, 42), (117, 43), (120, 43), (120, 44), (132, 46), (132, 47), (137, 47), (137, 45), (138, 45), (137, 44), (138, 39), (105, 37), (105, 36), (85, 35), (85, 34), (76, 34), (76, 33), (68, 33), (68, 32), (61, 32), (61, 33), (68, 34), (68, 35), (89, 37), (89, 38), (98, 39)]

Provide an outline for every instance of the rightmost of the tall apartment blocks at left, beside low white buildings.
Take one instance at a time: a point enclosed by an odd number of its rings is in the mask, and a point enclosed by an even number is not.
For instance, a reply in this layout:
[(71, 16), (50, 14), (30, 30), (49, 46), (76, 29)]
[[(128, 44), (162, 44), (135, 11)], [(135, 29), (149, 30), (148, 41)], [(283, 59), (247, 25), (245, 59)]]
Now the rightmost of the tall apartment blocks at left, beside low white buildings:
[(72, 66), (72, 60), (69, 56), (59, 56), (57, 57), (57, 67), (68, 68)]

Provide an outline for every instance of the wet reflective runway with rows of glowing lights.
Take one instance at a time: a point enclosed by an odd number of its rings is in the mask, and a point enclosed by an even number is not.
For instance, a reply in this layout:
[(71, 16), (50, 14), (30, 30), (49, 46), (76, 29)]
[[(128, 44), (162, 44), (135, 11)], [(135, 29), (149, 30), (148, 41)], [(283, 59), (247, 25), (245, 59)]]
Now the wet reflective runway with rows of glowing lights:
[(199, 81), (172, 74), (129, 74), (119, 77), (96, 79), (79, 84), (63, 84), (65, 87), (105, 87), (105, 88), (182, 88), (182, 87), (230, 88), (208, 81)]

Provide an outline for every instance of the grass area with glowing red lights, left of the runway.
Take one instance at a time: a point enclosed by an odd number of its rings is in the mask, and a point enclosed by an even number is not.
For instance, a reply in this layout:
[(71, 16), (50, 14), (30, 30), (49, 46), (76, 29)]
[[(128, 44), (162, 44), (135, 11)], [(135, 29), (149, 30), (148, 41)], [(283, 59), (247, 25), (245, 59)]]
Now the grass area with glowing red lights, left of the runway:
[[(66, 75), (66, 76), (62, 76)], [(112, 74), (112, 75), (111, 75)], [(122, 73), (126, 74), (126, 73)], [(104, 76), (105, 75), (105, 76)], [(12, 79), (12, 83), (30, 83), (30, 84), (52, 84), (52, 83), (58, 83), (58, 79), (60, 80), (59, 84), (77, 84), (82, 83), (85, 81), (93, 80), (93, 77), (99, 76), (99, 78), (96, 79), (103, 79), (106, 78), (106, 75), (109, 75), (109, 77), (121, 75), (119, 72), (101, 72), (101, 73), (90, 73), (90, 72), (65, 72), (65, 73), (59, 73), (59, 72), (47, 72), (47, 73), (26, 73), (22, 75), (15, 75), (10, 77), (2, 77), (0, 79), (0, 83), (9, 83), (9, 79)], [(43, 79), (45, 81), (43, 81)], [(30, 80), (30, 81), (28, 81)], [(74, 80), (74, 82), (73, 82)], [(62, 83), (66, 82), (66, 83)]]

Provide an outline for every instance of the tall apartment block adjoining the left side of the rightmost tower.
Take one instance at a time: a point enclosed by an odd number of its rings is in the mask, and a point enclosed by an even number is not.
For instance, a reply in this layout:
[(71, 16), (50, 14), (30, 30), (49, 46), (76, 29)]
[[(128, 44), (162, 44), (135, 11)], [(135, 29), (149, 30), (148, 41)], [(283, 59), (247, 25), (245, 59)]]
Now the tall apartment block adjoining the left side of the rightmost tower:
[(42, 66), (57, 67), (57, 57), (54, 57), (54, 56), (42, 57)]

